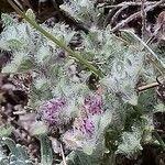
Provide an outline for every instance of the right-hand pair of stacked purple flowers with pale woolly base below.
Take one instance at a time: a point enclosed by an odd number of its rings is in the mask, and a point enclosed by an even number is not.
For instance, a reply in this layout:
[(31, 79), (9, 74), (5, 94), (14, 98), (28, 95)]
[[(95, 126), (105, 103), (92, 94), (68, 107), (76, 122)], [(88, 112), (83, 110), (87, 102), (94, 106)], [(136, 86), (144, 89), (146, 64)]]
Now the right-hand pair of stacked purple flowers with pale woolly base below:
[(99, 130), (103, 114), (102, 97), (100, 95), (86, 96), (79, 111), (79, 116), (73, 123), (73, 129), (63, 135), (63, 141), (72, 150), (88, 147), (92, 151), (102, 131)]

